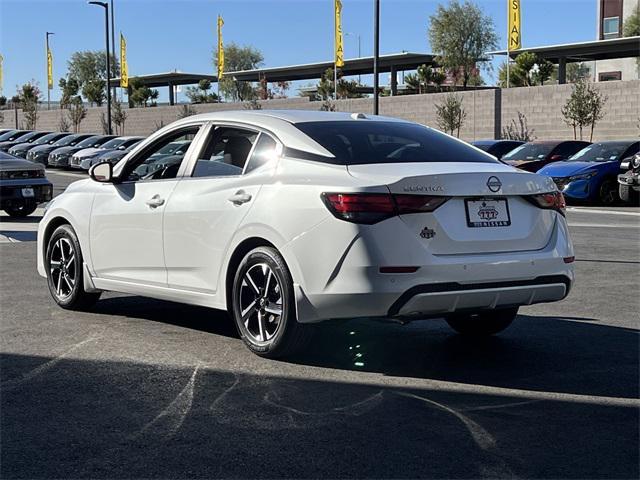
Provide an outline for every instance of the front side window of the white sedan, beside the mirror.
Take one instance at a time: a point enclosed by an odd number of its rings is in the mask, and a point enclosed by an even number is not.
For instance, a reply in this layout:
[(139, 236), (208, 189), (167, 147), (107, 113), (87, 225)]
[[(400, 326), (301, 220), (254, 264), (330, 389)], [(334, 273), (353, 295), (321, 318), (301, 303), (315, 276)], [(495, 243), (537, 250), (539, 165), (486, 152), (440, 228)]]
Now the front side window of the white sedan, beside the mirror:
[[(185, 149), (181, 152), (172, 152), (169, 154), (161, 152), (166, 152), (167, 146), (171, 143), (188, 142), (190, 144), (198, 133), (198, 130), (200, 130), (200, 126), (194, 125), (171, 132), (156, 140), (126, 166), (126, 170), (123, 172), (126, 181), (135, 182), (139, 180), (166, 180), (176, 178), (187, 150)], [(114, 148), (120, 150), (120, 147), (123, 147), (124, 149), (126, 148), (125, 145), (129, 146), (131, 143), (137, 143), (138, 141), (139, 139), (127, 139)]]

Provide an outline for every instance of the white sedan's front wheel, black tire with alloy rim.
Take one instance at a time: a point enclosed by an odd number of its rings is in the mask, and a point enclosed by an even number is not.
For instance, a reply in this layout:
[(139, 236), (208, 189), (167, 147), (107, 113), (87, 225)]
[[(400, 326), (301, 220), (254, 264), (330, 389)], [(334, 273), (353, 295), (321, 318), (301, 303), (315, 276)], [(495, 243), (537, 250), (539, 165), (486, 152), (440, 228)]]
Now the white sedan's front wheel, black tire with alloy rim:
[[(62, 251), (62, 256), (60, 251)], [(63, 266), (63, 263), (66, 265)], [(49, 238), (45, 268), (47, 269), (49, 292), (62, 308), (87, 310), (100, 298), (100, 292), (86, 292), (84, 290), (82, 265), (82, 251), (76, 232), (71, 225), (61, 225)]]

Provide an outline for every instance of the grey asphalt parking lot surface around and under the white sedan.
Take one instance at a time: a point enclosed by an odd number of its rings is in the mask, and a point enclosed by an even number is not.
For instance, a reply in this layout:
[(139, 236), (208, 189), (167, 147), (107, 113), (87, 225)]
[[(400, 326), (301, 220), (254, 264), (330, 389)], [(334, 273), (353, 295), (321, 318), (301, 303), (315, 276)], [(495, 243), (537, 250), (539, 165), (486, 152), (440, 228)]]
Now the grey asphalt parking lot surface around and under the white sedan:
[(0, 477), (638, 478), (640, 209), (567, 216), (573, 292), (503, 334), (332, 322), (287, 361), (249, 353), (222, 312), (58, 308), (38, 212), (2, 217)]

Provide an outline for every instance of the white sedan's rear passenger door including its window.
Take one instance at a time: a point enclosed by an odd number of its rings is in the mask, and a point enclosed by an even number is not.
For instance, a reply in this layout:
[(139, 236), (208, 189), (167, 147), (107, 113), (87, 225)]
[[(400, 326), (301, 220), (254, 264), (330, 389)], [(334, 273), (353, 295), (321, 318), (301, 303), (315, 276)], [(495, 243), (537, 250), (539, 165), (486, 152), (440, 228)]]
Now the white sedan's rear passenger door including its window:
[(192, 173), (165, 210), (169, 286), (214, 294), (222, 260), (269, 175), (277, 142), (248, 127), (212, 126)]

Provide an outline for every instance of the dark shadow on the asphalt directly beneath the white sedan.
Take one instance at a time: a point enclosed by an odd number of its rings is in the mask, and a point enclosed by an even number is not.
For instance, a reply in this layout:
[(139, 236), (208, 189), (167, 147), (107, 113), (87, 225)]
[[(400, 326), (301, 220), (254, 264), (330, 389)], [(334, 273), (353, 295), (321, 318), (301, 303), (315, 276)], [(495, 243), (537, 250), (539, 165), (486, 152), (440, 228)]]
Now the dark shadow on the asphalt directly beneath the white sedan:
[[(105, 298), (94, 313), (140, 318), (237, 339), (226, 312), (136, 296)], [(638, 332), (595, 318), (519, 315), (499, 335), (471, 338), (441, 319), (394, 322), (357, 319), (314, 325), (291, 364), (395, 377), (503, 388), (638, 398)], [(247, 355), (250, 353), (247, 351)]]

